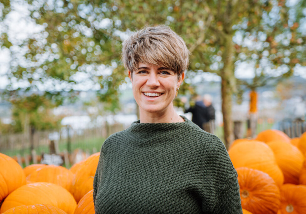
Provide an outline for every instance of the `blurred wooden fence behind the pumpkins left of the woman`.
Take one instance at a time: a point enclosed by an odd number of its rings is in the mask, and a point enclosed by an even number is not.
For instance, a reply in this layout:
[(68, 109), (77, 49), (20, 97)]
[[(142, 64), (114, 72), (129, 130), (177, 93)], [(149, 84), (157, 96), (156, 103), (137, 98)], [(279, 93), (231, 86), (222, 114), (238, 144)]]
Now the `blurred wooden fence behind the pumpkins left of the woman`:
[[(61, 130), (52, 131), (35, 131), (32, 136), (32, 144), (30, 142), (30, 133), (14, 133), (8, 135), (0, 135), (0, 153), (14, 156), (20, 154), (21, 156), (31, 154), (31, 145), (36, 150), (37, 154), (49, 153), (50, 142), (55, 141), (60, 148), (66, 147), (68, 142), (73, 146), (74, 144), (82, 144), (86, 148), (86, 144), (93, 139), (100, 139), (100, 147), (103, 142), (112, 133), (121, 131), (127, 127), (123, 124), (108, 124), (105, 123), (101, 127), (88, 129), (72, 129), (69, 126), (63, 127)], [(89, 145), (92, 147), (92, 145)], [(74, 146), (75, 147), (75, 146)], [(66, 147), (69, 151), (69, 149)], [(92, 149), (92, 148), (88, 148)], [(97, 148), (95, 149), (97, 150)], [(93, 150), (93, 151), (95, 151)], [(92, 153), (92, 151), (90, 152)]]

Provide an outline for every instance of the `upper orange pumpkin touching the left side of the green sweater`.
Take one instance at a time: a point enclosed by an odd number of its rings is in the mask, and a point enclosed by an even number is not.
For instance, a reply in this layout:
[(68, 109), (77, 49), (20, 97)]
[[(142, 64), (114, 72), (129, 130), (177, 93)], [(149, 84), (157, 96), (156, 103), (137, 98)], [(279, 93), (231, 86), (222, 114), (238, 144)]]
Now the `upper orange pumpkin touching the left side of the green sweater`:
[(71, 193), (77, 202), (93, 189), (93, 178), (96, 174), (100, 152), (90, 155), (79, 165), (72, 180)]

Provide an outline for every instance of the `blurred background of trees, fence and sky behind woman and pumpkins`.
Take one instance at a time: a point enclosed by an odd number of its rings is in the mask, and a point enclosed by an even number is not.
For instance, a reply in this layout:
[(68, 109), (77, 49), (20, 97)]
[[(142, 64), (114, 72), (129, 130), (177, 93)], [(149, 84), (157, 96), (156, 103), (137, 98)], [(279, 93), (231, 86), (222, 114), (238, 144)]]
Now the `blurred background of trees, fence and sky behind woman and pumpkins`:
[(191, 119), (184, 109), (211, 95), (213, 133), (227, 148), (269, 128), (306, 131), (305, 0), (4, 0), (0, 152), (23, 166), (66, 154), (68, 167), (129, 127), (138, 107), (121, 44), (157, 24), (191, 52), (179, 114)]

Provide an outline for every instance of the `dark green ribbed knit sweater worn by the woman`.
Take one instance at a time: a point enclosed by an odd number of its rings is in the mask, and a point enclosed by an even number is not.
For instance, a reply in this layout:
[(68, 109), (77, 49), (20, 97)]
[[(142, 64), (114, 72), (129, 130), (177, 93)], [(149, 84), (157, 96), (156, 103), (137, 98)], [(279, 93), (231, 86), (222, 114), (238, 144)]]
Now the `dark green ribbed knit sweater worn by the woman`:
[(242, 213), (224, 144), (183, 118), (137, 121), (105, 140), (93, 181), (97, 214)]

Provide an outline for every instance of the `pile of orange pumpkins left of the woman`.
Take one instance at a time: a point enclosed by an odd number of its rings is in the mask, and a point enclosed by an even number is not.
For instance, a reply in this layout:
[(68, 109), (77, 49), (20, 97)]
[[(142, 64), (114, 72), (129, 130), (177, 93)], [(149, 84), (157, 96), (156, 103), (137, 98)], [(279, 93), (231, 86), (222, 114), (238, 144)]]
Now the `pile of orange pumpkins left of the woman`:
[(100, 153), (62, 166), (32, 164), (24, 169), (0, 153), (0, 213), (94, 214), (93, 177)]

